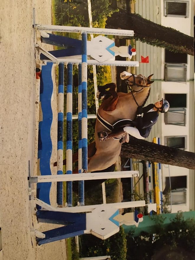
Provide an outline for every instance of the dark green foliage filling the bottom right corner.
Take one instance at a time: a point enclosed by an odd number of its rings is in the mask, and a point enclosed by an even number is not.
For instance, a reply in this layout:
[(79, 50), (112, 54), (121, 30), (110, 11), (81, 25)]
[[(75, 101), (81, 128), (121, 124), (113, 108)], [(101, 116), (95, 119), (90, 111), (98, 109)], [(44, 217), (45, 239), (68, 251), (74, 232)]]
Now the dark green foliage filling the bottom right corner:
[(132, 238), (127, 236), (127, 259), (194, 259), (195, 257), (195, 219), (184, 220), (182, 213), (176, 215), (165, 226), (164, 216), (158, 215), (155, 233)]

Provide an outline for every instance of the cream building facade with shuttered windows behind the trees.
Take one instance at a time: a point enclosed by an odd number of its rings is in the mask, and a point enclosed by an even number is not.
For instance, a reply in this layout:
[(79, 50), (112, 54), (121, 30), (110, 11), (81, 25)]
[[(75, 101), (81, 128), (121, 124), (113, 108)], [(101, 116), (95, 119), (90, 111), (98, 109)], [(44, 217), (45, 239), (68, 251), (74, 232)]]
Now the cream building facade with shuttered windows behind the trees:
[[(192, 0), (136, 0), (135, 13), (193, 37)], [(140, 41), (136, 41), (136, 51), (138, 61), (141, 55), (149, 56), (149, 63), (140, 63), (136, 73), (154, 74), (147, 104), (161, 98), (170, 103), (168, 113), (160, 114), (148, 141), (160, 137), (162, 145), (194, 152), (194, 57)], [(194, 210), (194, 170), (164, 164), (161, 168), (163, 189), (168, 190), (171, 183), (171, 211)]]

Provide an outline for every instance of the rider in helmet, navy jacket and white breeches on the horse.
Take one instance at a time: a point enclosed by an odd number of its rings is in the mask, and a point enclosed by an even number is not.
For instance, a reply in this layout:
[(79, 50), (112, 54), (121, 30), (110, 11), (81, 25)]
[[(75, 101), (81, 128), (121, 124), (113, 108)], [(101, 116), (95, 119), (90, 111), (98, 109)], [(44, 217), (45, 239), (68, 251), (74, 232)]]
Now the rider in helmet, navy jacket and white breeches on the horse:
[[(137, 108), (137, 118), (134, 120), (135, 127), (125, 126), (123, 128), (114, 129), (111, 133), (107, 133), (105, 131), (99, 132), (98, 136), (100, 141), (105, 141), (111, 138), (123, 138), (127, 133), (138, 139), (147, 138), (150, 134), (152, 126), (157, 122), (159, 112), (167, 112), (169, 106), (168, 101), (163, 98), (155, 104), (150, 104), (146, 107), (139, 106)], [(121, 139), (120, 142), (124, 142), (124, 140)]]

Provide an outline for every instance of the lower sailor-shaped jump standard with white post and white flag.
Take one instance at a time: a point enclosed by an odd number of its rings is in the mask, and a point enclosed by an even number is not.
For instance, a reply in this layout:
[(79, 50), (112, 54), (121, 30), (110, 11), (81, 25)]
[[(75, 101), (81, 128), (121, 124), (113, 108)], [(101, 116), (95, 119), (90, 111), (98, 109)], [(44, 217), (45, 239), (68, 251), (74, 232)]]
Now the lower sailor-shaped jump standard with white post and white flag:
[[(120, 225), (135, 225), (138, 227), (139, 222), (143, 221), (143, 215), (137, 210), (121, 215), (118, 209), (132, 206), (145, 206), (145, 201), (100, 204), (94, 206), (95, 208), (92, 209), (90, 209), (90, 206), (67, 208), (67, 210), (77, 208), (80, 211), (74, 213), (62, 212), (60, 208), (58, 208), (58, 211), (38, 210), (38, 222), (64, 225), (63, 227), (43, 232), (43, 236), (45, 235), (45, 237), (36, 238), (38, 245), (83, 234), (92, 234), (100, 239), (106, 239), (116, 234), (119, 231)], [(152, 209), (156, 210), (156, 204), (148, 205), (148, 211)]]

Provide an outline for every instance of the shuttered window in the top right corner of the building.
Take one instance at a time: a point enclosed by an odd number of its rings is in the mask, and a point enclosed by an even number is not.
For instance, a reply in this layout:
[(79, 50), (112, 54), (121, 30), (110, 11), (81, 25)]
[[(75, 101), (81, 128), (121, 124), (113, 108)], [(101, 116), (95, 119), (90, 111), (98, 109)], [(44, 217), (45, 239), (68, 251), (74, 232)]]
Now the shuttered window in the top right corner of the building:
[(165, 0), (165, 16), (188, 17), (189, 1)]

